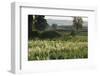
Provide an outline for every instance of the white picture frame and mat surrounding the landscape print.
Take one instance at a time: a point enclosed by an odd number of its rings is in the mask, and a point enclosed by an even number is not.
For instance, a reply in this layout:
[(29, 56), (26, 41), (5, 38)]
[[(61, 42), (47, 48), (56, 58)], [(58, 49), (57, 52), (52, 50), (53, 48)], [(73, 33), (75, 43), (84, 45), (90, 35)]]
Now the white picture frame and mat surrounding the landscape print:
[[(28, 8), (27, 8), (28, 7)], [(25, 9), (23, 9), (25, 8)], [(36, 12), (35, 9), (40, 10)], [(24, 10), (24, 13), (23, 10)], [(27, 10), (26, 10), (27, 9)], [(34, 10), (32, 10), (34, 9)], [(69, 10), (69, 11), (67, 11)], [(73, 10), (73, 11), (72, 11)], [(35, 12), (34, 12), (35, 11)], [(48, 11), (45, 12), (45, 11)], [(55, 11), (55, 13), (53, 13)], [(69, 13), (67, 13), (67, 12)], [(49, 13), (50, 12), (50, 13)], [(59, 12), (59, 13), (57, 13)], [(86, 13), (85, 13), (86, 12)], [(12, 3), (12, 59), (11, 71), (13, 73), (22, 72), (46, 72), (54, 70), (74, 69), (74, 68), (89, 68), (94, 66), (94, 39), (96, 37), (94, 8), (69, 7), (68, 8), (52, 8), (52, 7), (36, 7), (33, 4)], [(52, 61), (35, 61), (28, 62), (26, 60), (27, 53), (23, 50), (27, 48), (24, 40), (27, 40), (27, 14), (45, 14), (45, 15), (69, 15), (69, 16), (88, 16), (88, 37), (89, 37), (89, 58), (88, 59), (71, 59), (71, 60), (52, 60)], [(71, 14), (70, 14), (71, 13)], [(23, 26), (24, 25), (24, 26)], [(91, 25), (91, 27), (90, 27)], [(24, 29), (23, 29), (24, 28)], [(26, 33), (25, 33), (26, 32)], [(24, 45), (24, 46), (23, 46)], [(21, 50), (21, 51), (20, 51)]]

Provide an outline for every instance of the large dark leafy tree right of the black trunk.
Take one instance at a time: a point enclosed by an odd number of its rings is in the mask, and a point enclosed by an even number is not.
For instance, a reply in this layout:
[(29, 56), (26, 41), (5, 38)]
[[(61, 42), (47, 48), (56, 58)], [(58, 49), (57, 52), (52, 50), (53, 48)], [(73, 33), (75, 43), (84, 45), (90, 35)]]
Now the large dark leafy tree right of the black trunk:
[(44, 15), (35, 15), (34, 27), (38, 31), (43, 31), (48, 27), (48, 23)]

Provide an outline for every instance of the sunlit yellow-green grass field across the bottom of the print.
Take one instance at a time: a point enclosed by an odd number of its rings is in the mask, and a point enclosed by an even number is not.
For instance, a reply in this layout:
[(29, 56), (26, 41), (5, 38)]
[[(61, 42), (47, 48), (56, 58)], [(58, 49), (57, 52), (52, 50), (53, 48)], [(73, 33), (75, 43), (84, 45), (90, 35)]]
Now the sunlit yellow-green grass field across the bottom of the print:
[(28, 60), (76, 59), (88, 57), (87, 36), (65, 40), (29, 40)]

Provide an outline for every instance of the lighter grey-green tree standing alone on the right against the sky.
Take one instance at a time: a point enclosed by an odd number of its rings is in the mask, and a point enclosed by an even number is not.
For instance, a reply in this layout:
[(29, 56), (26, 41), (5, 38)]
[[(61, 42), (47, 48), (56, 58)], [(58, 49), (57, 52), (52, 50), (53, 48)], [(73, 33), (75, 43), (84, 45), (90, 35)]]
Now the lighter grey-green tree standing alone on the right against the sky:
[(73, 27), (75, 31), (79, 31), (82, 28), (83, 20), (81, 17), (74, 17), (73, 19)]

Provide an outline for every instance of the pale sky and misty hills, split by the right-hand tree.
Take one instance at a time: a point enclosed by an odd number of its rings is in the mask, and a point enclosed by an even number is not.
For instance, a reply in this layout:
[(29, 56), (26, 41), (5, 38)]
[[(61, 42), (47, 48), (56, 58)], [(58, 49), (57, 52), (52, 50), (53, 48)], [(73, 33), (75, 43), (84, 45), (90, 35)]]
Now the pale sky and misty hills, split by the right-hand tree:
[[(73, 24), (73, 17), (70, 16), (45, 16), (49, 25), (57, 24), (58, 26), (64, 25), (69, 26)], [(83, 19), (83, 26), (88, 26), (88, 18), (82, 17)]]

